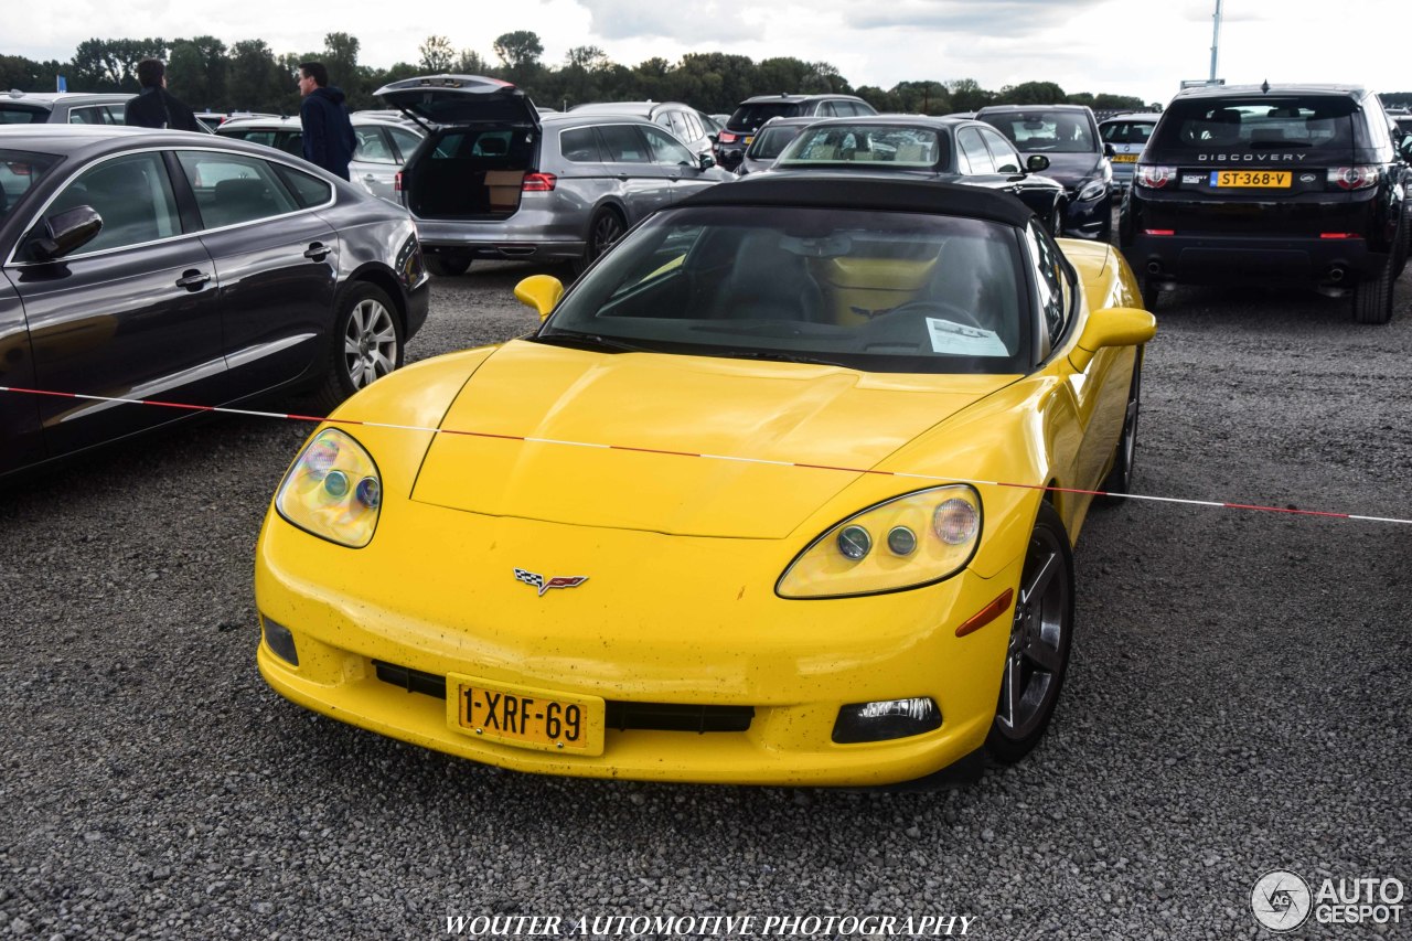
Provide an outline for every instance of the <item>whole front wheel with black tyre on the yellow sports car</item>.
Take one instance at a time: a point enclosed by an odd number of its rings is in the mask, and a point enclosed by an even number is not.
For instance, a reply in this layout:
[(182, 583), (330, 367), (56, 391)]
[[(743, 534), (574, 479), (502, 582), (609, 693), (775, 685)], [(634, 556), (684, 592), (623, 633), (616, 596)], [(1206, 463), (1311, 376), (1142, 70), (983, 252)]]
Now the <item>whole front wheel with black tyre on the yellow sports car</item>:
[(1011, 764), (1028, 754), (1053, 716), (1073, 639), (1073, 554), (1059, 513), (1039, 504), (1010, 629), (995, 721), (986, 753)]

